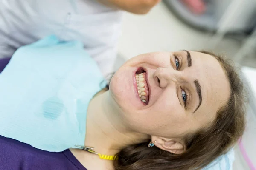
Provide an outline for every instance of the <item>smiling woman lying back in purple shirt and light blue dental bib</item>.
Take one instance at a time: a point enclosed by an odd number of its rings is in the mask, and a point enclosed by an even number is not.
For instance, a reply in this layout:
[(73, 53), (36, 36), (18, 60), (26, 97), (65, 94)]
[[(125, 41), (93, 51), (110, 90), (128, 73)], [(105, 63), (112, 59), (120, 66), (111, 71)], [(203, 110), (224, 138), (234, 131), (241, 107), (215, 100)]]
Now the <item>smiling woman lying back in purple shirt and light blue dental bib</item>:
[(95, 95), (101, 81), (79, 42), (18, 49), (0, 74), (0, 169), (201, 169), (244, 131), (243, 85), (215, 54), (142, 54)]

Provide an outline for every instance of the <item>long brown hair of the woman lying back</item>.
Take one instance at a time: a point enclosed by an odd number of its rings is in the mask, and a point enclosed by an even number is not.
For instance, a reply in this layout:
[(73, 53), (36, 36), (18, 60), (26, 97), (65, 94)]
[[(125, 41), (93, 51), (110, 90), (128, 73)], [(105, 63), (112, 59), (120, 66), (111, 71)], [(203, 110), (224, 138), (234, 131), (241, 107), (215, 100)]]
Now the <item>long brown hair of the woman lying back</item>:
[(228, 60), (211, 52), (200, 52), (215, 57), (230, 82), (229, 100), (219, 108), (212, 125), (187, 135), (186, 150), (180, 155), (149, 148), (150, 141), (125, 147), (117, 153), (118, 160), (113, 161), (115, 170), (198, 170), (227, 153), (242, 136), (245, 127), (243, 83)]

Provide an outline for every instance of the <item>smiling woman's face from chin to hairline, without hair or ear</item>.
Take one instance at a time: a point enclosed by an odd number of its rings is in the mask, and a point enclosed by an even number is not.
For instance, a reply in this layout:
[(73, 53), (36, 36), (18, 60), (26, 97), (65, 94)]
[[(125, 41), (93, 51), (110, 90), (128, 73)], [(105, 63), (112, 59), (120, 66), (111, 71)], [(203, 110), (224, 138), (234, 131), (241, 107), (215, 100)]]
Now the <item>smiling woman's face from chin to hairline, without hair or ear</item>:
[(217, 59), (195, 51), (139, 55), (125, 62), (110, 83), (111, 101), (125, 125), (166, 138), (209, 125), (229, 91)]

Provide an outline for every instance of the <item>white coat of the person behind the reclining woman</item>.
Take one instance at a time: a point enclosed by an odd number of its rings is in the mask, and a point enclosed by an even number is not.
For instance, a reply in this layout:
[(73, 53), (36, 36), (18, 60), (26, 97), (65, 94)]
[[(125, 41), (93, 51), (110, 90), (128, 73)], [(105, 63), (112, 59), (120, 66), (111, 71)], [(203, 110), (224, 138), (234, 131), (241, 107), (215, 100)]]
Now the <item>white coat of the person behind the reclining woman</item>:
[(106, 76), (113, 72), (122, 12), (96, 0), (1, 0), (0, 58), (50, 34), (80, 40)]

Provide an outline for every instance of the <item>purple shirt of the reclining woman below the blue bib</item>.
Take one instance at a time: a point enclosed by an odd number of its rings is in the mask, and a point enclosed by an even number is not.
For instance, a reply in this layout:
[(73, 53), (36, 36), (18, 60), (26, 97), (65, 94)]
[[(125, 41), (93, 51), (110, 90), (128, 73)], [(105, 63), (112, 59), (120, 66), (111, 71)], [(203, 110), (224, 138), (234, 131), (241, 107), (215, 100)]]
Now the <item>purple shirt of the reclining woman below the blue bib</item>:
[(0, 136), (0, 170), (87, 170), (70, 152), (47, 152)]

